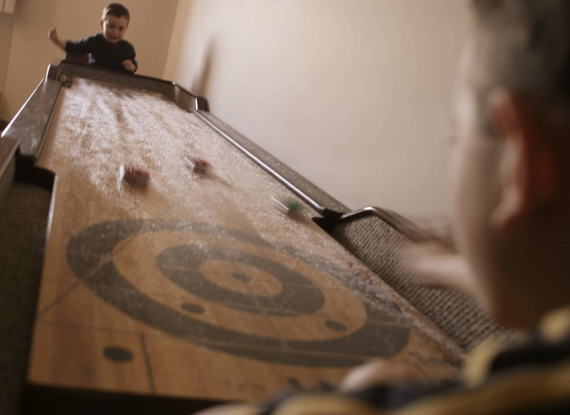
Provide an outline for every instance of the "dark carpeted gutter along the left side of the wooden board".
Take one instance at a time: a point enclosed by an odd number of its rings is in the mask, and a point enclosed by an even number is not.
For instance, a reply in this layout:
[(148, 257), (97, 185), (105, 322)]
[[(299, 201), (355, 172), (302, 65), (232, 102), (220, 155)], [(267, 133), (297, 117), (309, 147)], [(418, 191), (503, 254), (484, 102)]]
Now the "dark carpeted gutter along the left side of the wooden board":
[(18, 412), (42, 272), (50, 192), (15, 182), (0, 207), (0, 413)]

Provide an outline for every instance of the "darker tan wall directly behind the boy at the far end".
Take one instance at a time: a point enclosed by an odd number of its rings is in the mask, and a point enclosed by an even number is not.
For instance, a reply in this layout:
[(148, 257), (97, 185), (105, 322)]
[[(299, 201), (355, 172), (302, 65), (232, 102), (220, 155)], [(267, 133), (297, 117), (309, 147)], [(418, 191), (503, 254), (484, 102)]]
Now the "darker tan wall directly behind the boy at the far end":
[[(57, 26), (58, 34), (67, 39), (95, 34), (100, 30), (101, 11), (108, 3), (109, 0), (18, 0), (0, 119), (11, 119), (45, 75), (47, 65), (64, 58), (65, 52), (47, 38), (48, 29)], [(125, 39), (135, 46), (139, 60), (137, 73), (160, 78), (178, 0), (123, 3), (131, 12)]]

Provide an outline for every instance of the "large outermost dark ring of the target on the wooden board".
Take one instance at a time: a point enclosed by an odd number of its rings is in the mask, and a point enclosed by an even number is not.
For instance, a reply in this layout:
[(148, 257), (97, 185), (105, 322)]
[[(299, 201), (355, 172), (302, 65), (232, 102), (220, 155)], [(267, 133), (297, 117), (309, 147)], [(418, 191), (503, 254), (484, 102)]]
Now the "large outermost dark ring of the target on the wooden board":
[[(288, 340), (288, 347), (284, 348), (280, 340), (275, 338), (237, 332), (193, 319), (188, 314), (172, 310), (137, 290), (123, 278), (111, 259), (107, 263), (100, 264), (101, 259), (111, 258), (113, 249), (119, 242), (139, 233), (143, 227), (146, 233), (174, 231), (213, 234), (236, 241), (255, 243), (292, 255), (320, 271), (327, 272), (352, 291), (358, 292), (367, 312), (367, 320), (357, 331), (346, 336), (315, 341)], [(185, 251), (188, 250), (188, 247), (183, 248)], [(214, 255), (221, 258), (228, 256), (233, 258), (232, 255), (239, 253), (223, 249), (214, 251)], [(196, 250), (192, 252), (198, 254)], [(247, 258), (242, 259), (254, 261), (251, 256)], [(357, 276), (323, 258), (282, 243), (269, 243), (257, 235), (205, 223), (121, 219), (98, 223), (79, 231), (68, 243), (67, 259), (78, 278), (81, 278), (92, 292), (117, 309), (171, 335), (184, 337), (206, 347), (238, 356), (282, 364), (343, 367), (361, 363), (370, 356), (392, 356), (404, 348), (408, 341), (409, 327), (402, 323), (402, 314), (396, 304), (387, 299), (379, 300), (365, 289)], [(101, 266), (96, 267), (98, 264)], [(93, 274), (89, 274), (89, 271)], [(88, 277), (82, 278), (86, 275)], [(294, 274), (287, 275), (291, 277)], [(310, 282), (303, 275), (300, 276)], [(115, 289), (108, 290), (109, 286)], [(243, 304), (238, 307), (241, 306)], [(398, 324), (394, 324), (394, 320), (398, 320)], [(378, 323), (380, 321), (386, 324)]]

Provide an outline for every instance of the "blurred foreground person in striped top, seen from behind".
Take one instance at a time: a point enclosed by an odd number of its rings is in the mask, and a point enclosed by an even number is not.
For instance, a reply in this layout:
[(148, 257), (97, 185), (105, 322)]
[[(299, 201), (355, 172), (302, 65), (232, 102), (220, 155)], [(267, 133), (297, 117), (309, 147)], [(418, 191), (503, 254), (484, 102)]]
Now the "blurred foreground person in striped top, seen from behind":
[(406, 367), (378, 360), (336, 393), (210, 415), (570, 413), (570, 2), (471, 3), (451, 165), (461, 257), (442, 254), (439, 270), (461, 272), (497, 322), (532, 335), (480, 349), (454, 385), (411, 385)]

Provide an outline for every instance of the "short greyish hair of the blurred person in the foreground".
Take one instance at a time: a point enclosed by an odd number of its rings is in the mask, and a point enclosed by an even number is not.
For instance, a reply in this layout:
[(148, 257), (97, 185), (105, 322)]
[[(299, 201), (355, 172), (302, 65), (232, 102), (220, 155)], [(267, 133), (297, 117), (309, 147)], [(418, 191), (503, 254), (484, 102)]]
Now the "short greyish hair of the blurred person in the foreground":
[(480, 102), (504, 87), (570, 116), (570, 1), (472, 2), (470, 77)]

